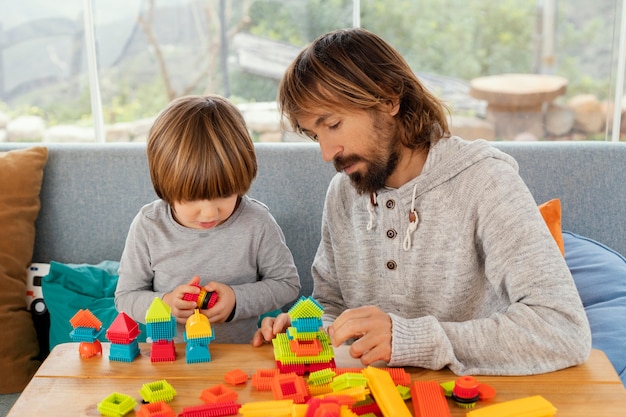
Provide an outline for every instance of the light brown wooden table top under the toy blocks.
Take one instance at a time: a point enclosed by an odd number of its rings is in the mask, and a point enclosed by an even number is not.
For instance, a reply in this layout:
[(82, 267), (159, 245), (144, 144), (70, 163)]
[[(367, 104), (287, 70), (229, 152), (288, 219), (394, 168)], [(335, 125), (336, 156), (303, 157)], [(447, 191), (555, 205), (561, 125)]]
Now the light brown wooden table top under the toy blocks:
[[(177, 392), (169, 405), (178, 414), (183, 407), (202, 404), (199, 399), (202, 390), (225, 383), (224, 374), (228, 371), (241, 369), (251, 376), (257, 369), (276, 367), (271, 345), (253, 348), (250, 345), (212, 344), (209, 346), (212, 360), (195, 364), (186, 363), (184, 344), (177, 345), (177, 359), (172, 363), (152, 363), (149, 344), (141, 345), (141, 355), (131, 363), (110, 361), (110, 345), (103, 343), (102, 346), (102, 357), (90, 359), (80, 358), (77, 343), (56, 346), (8, 417), (99, 416), (98, 402), (113, 392), (130, 395), (140, 404), (142, 385), (162, 379)], [(336, 349), (335, 355), (338, 367), (362, 367), (348, 355), (345, 346)], [(406, 370), (413, 380), (444, 382), (456, 379), (447, 369)], [(606, 355), (599, 350), (593, 350), (585, 364), (558, 372), (521, 377), (478, 376), (477, 379), (494, 387), (497, 394), (494, 399), (479, 402), (476, 407), (539, 394), (558, 409), (557, 416), (613, 417), (626, 410), (626, 390)], [(250, 380), (232, 389), (238, 393), (241, 404), (273, 400), (271, 392), (257, 391)], [(465, 416), (465, 410), (448, 401), (453, 416)], [(412, 412), (410, 401), (407, 404)], [(134, 416), (135, 413), (127, 415)]]

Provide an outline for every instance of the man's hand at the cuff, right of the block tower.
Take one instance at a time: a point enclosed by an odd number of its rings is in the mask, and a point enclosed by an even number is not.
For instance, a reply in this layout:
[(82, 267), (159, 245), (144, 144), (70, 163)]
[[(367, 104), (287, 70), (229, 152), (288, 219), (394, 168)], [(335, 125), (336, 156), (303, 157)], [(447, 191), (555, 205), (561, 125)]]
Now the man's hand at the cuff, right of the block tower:
[(378, 360), (391, 360), (391, 317), (378, 307), (344, 311), (328, 327), (328, 334), (335, 347), (355, 339), (350, 346), (350, 356), (360, 358), (365, 366)]

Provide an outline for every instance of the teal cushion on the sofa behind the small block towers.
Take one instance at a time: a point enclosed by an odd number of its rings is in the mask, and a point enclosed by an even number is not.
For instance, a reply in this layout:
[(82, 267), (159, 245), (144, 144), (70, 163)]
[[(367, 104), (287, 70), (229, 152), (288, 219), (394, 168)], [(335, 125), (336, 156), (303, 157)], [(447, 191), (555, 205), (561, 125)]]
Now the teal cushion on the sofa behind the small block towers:
[[(70, 319), (81, 309), (88, 309), (107, 329), (118, 315), (115, 288), (119, 262), (102, 261), (96, 265), (50, 262), (50, 272), (42, 280), (42, 291), (50, 312), (50, 350), (60, 343), (71, 342)], [(138, 341), (146, 340), (143, 324)], [(106, 331), (99, 340), (106, 342)]]

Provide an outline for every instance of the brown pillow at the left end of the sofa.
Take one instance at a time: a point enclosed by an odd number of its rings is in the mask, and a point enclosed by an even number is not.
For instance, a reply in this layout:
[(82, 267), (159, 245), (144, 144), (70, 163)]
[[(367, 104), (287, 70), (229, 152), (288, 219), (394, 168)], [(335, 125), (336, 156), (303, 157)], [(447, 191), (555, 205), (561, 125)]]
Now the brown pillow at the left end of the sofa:
[(20, 392), (40, 365), (37, 333), (26, 307), (26, 270), (48, 149), (0, 152), (0, 394)]

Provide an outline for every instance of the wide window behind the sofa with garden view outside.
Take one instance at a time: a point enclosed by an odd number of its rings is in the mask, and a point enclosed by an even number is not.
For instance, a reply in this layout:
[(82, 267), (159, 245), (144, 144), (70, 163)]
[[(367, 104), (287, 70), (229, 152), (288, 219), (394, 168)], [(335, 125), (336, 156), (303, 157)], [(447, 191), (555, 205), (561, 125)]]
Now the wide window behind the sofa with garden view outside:
[(353, 25), (405, 56), (453, 133), (626, 140), (620, 3), (22, 0), (0, 16), (0, 140), (142, 141), (170, 100), (203, 93), (239, 105), (255, 140), (301, 140), (280, 131), (284, 68)]

